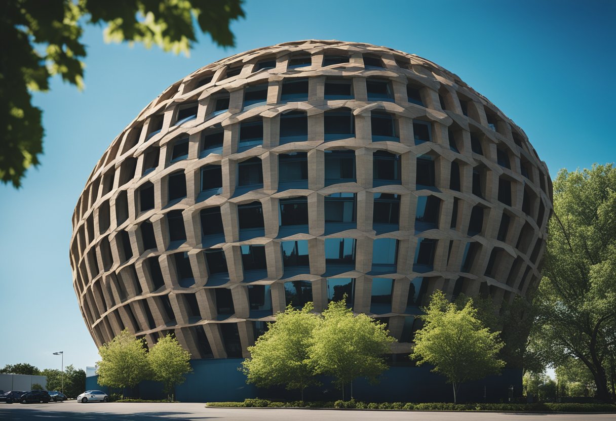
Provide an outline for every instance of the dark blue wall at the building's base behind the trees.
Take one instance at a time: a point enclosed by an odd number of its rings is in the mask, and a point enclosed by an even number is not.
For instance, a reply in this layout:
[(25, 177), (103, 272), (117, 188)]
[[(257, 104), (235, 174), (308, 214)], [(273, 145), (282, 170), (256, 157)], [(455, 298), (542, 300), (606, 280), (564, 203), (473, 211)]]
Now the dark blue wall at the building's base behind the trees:
[[(246, 384), (246, 377), (240, 371), (240, 358), (233, 359), (193, 359), (192, 374), (176, 387), (176, 400), (182, 402), (243, 401), (246, 398), (299, 400), (299, 390), (285, 390), (283, 387), (262, 389)], [(444, 377), (432, 373), (431, 367), (390, 367), (380, 377), (380, 382), (371, 385), (365, 379), (353, 382), (353, 397), (365, 402), (452, 402), (452, 385), (445, 383)], [(87, 377), (86, 390), (103, 390), (96, 382), (97, 376)], [(307, 401), (336, 401), (342, 398), (342, 391), (331, 385), (331, 378), (322, 377), (318, 387), (304, 391)], [(519, 398), (522, 392), (522, 371), (504, 369), (501, 375), (486, 377), (476, 382), (463, 383), (458, 402), (507, 402), (509, 388), (513, 386), (513, 397)], [(114, 392), (118, 392), (114, 390)], [(485, 393), (485, 395), (484, 395)], [(124, 390), (124, 395), (141, 399), (163, 399), (162, 385), (159, 382), (141, 382), (134, 389)], [(351, 396), (347, 387), (345, 396)]]

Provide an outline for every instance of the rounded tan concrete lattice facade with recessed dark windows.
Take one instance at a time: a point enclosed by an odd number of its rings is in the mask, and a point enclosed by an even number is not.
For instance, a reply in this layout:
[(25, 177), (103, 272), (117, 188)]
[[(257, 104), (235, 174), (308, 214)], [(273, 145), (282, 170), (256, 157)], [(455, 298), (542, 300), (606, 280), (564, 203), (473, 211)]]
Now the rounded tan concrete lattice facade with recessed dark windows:
[(99, 346), (126, 327), (150, 346), (174, 332), (193, 358), (246, 357), (300, 291), (317, 310), (347, 292), (404, 353), (436, 289), (498, 305), (533, 291), (551, 209), (524, 132), (455, 74), (289, 42), (150, 103), (89, 177), (70, 259)]

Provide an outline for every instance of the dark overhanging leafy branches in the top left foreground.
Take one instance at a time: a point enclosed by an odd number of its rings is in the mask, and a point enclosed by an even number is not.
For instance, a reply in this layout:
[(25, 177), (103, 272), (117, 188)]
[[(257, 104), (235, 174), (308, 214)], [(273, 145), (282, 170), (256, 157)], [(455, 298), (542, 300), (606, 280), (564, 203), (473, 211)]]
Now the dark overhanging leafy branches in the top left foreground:
[(140, 42), (178, 54), (197, 42), (198, 28), (219, 46), (233, 46), (232, 20), (244, 16), (242, 0), (4, 0), (0, 2), (0, 180), (19, 187), (43, 153), (42, 111), (32, 91), (49, 78), (83, 88), (83, 25), (106, 25), (105, 41)]

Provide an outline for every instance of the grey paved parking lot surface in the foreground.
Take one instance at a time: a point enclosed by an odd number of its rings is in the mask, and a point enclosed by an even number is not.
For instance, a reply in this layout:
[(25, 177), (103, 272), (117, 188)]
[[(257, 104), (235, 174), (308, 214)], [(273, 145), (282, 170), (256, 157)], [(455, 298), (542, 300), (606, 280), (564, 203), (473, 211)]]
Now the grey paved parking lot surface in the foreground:
[(0, 404), (0, 420), (229, 420), (229, 421), (334, 421), (334, 420), (413, 420), (413, 421), (602, 421), (614, 414), (526, 414), (499, 412), (408, 412), (336, 411), (311, 409), (222, 409), (203, 403), (87, 403), (75, 401), (49, 404)]

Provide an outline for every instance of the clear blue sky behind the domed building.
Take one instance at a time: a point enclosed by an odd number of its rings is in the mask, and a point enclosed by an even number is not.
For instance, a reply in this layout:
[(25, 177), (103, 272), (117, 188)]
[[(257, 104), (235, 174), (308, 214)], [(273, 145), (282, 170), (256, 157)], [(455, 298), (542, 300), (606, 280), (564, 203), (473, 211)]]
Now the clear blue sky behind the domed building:
[[(105, 44), (89, 26), (86, 89), (52, 80), (34, 95), (45, 154), (23, 188), (0, 186), (0, 366), (84, 368), (97, 350), (79, 313), (71, 215), (113, 138), (173, 82), (228, 55), (300, 39), (369, 42), (418, 54), (485, 95), (530, 138), (554, 177), (616, 160), (616, 2), (256, 1), (232, 25), (237, 47), (201, 36), (191, 57)], [(612, 123), (612, 124), (610, 124)]]

